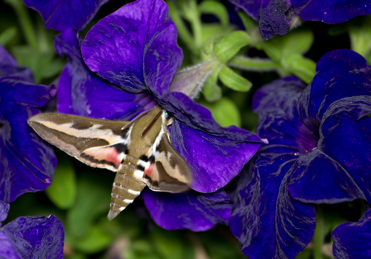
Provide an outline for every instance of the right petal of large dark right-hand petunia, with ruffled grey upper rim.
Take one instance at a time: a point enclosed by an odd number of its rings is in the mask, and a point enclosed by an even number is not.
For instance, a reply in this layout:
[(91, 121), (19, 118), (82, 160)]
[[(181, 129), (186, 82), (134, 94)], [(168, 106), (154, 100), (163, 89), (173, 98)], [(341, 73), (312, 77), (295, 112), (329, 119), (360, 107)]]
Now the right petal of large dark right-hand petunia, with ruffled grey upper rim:
[[(334, 102), (325, 112), (318, 149), (338, 161), (371, 201), (371, 96)], [(334, 143), (341, 141), (341, 144)]]

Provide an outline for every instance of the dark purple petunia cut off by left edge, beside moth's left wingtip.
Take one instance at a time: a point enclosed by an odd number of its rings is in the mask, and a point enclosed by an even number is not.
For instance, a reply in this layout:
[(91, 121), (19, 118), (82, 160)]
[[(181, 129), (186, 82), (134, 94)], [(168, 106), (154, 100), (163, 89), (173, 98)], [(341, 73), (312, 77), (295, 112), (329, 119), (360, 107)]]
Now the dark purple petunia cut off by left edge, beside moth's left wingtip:
[(55, 94), (37, 85), (29, 68), (0, 46), (0, 200), (10, 202), (26, 192), (44, 190), (52, 182), (56, 157), (51, 145), (27, 124)]

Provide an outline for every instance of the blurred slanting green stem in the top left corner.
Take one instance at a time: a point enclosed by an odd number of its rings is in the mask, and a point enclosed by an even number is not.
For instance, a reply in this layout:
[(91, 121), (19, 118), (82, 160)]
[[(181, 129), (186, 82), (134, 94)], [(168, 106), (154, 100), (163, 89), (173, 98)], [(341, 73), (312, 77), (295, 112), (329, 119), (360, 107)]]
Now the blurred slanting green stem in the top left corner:
[(5, 0), (10, 4), (17, 14), (20, 26), (22, 27), (23, 33), (26, 37), (26, 41), (35, 50), (39, 49), (37, 44), (35, 29), (32, 26), (31, 18), (27, 12), (26, 6), (23, 4), (22, 0)]

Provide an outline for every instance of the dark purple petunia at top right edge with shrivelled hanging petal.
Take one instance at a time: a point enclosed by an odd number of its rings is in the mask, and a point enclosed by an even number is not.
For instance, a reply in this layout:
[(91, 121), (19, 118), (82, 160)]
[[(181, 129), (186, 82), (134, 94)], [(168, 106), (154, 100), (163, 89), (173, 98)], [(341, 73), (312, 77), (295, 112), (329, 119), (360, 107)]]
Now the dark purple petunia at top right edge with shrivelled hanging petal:
[(354, 0), (229, 0), (254, 20), (259, 21), (263, 39), (285, 34), (290, 22), (285, 12), (291, 6), (301, 19), (325, 23), (342, 23), (352, 17), (371, 13), (370, 1)]

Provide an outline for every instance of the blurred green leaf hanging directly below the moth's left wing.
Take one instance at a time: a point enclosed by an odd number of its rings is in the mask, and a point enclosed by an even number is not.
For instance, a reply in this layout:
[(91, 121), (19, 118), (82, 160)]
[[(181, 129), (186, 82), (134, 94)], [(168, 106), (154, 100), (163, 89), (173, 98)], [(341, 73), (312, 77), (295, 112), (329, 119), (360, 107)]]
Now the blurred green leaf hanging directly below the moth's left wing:
[(46, 188), (45, 193), (59, 209), (69, 209), (75, 203), (75, 168), (67, 155), (58, 156), (52, 184)]

